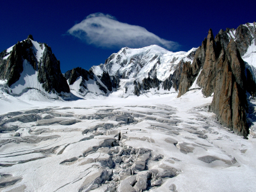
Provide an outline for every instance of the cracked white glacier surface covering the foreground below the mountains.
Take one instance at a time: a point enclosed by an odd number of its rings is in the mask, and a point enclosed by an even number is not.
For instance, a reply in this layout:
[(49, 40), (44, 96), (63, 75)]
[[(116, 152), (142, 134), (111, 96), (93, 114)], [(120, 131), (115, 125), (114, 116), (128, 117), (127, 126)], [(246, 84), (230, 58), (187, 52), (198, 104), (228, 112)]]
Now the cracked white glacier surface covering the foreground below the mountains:
[(13, 181), (1, 190), (254, 191), (255, 125), (248, 140), (228, 131), (201, 90), (120, 94), (41, 102), (0, 92), (0, 183)]

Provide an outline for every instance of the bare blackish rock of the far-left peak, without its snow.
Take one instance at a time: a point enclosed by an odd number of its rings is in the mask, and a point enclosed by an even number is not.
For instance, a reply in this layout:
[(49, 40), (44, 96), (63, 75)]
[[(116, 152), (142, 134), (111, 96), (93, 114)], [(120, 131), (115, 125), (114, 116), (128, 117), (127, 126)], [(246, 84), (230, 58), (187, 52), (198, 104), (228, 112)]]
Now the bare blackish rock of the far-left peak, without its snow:
[(7, 60), (3, 60), (3, 56), (8, 55), (6, 51), (1, 52), (0, 79), (6, 79), (8, 86), (12, 86), (19, 80), (20, 73), (23, 71), (23, 61), (27, 60), (34, 70), (38, 70), (38, 81), (43, 84), (46, 92), (54, 92), (54, 90), (58, 93), (70, 92), (65, 78), (61, 74), (60, 61), (52, 54), (51, 47), (44, 44), (42, 60), (37, 61), (31, 40), (33, 40), (33, 36), (29, 35), (28, 39), (14, 45)]

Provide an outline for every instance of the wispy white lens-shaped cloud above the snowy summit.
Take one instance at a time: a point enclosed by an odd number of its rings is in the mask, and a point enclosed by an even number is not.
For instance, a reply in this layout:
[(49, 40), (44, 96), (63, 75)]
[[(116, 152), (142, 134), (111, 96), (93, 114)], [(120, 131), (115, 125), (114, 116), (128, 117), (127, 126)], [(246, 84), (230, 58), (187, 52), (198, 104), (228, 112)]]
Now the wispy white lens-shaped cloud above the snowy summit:
[(164, 40), (147, 29), (119, 22), (112, 15), (93, 13), (67, 31), (70, 35), (98, 47), (145, 47), (160, 45), (175, 49), (179, 44)]

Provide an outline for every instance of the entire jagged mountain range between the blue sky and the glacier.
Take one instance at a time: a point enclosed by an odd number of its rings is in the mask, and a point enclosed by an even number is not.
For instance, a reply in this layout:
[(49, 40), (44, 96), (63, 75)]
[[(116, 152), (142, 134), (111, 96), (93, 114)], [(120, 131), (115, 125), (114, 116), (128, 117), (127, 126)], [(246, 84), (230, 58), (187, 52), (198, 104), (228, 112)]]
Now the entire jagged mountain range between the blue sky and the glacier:
[(178, 92), (180, 97), (202, 89), (205, 97), (213, 96), (209, 110), (221, 124), (246, 138), (247, 99), (256, 91), (255, 38), (255, 22), (221, 29), (215, 38), (210, 29), (202, 45), (188, 52), (158, 45), (124, 47), (89, 71), (73, 68), (61, 74), (51, 47), (29, 35), (0, 53), (1, 88), (13, 96), (36, 90), (64, 100), (105, 97), (117, 91), (120, 97), (148, 92)]

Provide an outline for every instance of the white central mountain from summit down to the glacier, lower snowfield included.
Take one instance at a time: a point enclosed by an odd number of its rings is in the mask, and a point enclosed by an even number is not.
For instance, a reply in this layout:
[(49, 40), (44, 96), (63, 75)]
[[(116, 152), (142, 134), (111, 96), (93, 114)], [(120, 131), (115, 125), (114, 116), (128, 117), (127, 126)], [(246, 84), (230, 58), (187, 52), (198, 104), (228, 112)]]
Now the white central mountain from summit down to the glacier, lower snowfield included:
[[(112, 54), (105, 64), (93, 66), (92, 70), (97, 76), (108, 72), (109, 76), (119, 79), (120, 97), (148, 92), (163, 94), (170, 92), (170, 88), (163, 88), (163, 81), (172, 81), (168, 77), (172, 76), (181, 61), (192, 63), (195, 52), (196, 48), (188, 52), (171, 52), (158, 45), (140, 49), (124, 47), (119, 52)], [(137, 90), (134, 87), (134, 82), (142, 83)]]

